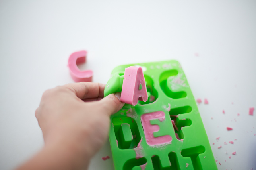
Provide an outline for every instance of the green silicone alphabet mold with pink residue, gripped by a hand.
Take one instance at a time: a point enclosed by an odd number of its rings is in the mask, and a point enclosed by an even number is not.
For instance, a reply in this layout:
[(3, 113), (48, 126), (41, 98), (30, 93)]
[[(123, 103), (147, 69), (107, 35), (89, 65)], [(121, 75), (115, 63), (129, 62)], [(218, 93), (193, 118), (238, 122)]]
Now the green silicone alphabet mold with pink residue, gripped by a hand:
[(178, 61), (121, 65), (104, 95), (122, 91), (124, 70), (143, 69), (148, 100), (111, 116), (116, 170), (217, 170), (196, 101)]

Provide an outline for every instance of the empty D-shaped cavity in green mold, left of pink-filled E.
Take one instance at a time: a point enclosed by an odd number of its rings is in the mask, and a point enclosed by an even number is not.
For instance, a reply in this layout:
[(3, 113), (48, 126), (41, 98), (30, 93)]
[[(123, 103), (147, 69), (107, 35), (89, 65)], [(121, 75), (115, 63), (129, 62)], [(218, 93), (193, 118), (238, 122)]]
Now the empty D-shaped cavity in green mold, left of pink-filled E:
[(120, 149), (137, 147), (141, 136), (136, 121), (131, 117), (113, 117), (114, 132)]

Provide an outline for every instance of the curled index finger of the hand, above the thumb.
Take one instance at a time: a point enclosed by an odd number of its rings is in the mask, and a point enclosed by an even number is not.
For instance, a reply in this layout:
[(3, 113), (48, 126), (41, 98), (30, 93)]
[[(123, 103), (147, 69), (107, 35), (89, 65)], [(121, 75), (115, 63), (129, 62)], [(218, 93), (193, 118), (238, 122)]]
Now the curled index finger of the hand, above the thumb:
[(70, 89), (80, 99), (104, 97), (105, 84), (80, 82), (66, 84), (64, 87)]

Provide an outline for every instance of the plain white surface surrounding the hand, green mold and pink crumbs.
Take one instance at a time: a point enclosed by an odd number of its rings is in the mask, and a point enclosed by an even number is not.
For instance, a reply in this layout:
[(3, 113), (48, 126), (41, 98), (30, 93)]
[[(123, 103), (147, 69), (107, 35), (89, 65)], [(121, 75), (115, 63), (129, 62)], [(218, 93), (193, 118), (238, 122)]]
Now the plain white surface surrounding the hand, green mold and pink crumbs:
[[(256, 169), (255, 0), (0, 0), (1, 170), (43, 147), (35, 109), (45, 90), (73, 82), (66, 65), (78, 50), (101, 83), (118, 65), (178, 60), (194, 97), (209, 101), (198, 107), (219, 170)], [(112, 170), (107, 155), (108, 141), (89, 169)]]

